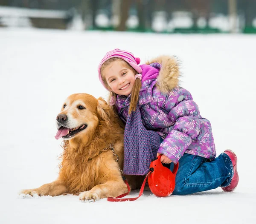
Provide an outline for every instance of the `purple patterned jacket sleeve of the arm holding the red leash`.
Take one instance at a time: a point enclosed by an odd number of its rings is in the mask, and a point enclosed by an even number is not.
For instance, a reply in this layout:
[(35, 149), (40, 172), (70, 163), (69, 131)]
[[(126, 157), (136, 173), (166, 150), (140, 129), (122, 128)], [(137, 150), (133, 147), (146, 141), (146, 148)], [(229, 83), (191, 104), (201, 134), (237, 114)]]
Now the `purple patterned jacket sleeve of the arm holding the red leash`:
[(195, 139), (200, 132), (200, 112), (192, 97), (190, 99), (184, 97), (172, 109), (168, 108), (167, 102), (165, 109), (169, 112), (174, 125), (161, 143), (158, 153), (166, 155), (176, 164), (191, 144), (192, 139)]

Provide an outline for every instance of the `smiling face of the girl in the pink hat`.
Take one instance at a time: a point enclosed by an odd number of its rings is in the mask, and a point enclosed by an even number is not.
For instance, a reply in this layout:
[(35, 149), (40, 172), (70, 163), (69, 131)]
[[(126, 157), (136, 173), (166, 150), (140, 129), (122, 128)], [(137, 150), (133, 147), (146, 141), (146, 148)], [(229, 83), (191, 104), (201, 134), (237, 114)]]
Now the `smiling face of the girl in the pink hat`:
[(102, 75), (114, 93), (125, 96), (131, 94), (135, 82), (135, 73), (125, 61), (113, 61), (102, 71)]

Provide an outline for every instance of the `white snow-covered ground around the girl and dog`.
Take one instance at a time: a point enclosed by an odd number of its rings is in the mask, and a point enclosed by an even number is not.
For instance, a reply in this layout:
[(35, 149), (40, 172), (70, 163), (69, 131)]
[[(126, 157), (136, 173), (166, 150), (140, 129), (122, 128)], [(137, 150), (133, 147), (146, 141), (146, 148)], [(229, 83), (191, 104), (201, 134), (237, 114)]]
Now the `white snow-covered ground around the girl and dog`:
[[(0, 29), (0, 223), (256, 223), (255, 42), (256, 35)], [(168, 198), (147, 192), (120, 203), (81, 203), (71, 195), (18, 198), (20, 189), (57, 177), (62, 150), (55, 117), (70, 94), (107, 95), (97, 65), (113, 48), (132, 51), (142, 62), (160, 54), (182, 60), (181, 85), (211, 121), (217, 154), (237, 153), (235, 192)]]

